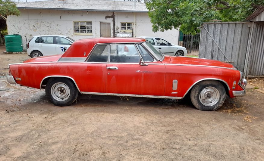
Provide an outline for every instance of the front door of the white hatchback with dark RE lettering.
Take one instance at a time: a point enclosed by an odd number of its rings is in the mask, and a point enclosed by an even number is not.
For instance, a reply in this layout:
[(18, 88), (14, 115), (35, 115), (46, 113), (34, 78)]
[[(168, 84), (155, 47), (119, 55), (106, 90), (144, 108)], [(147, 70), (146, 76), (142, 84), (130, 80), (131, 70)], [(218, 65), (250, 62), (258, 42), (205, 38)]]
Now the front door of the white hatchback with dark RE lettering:
[(64, 54), (72, 42), (64, 37), (55, 36), (56, 54)]

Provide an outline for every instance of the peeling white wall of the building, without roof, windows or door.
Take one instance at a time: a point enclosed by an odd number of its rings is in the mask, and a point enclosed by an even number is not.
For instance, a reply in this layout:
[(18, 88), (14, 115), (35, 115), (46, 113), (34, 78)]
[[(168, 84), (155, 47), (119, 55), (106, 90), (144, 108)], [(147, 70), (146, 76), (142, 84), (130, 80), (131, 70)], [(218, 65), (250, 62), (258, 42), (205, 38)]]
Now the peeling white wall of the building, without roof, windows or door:
[[(105, 16), (111, 15), (112, 12), (102, 11), (20, 10), (19, 17), (8, 16), (8, 34), (27, 36), (27, 41), (36, 35), (65, 35), (78, 40), (100, 37), (100, 22), (110, 22), (112, 36), (112, 18), (105, 19)], [(159, 36), (172, 44), (178, 44), (178, 30), (154, 33), (152, 32), (152, 24), (147, 13), (135, 13), (135, 15), (135, 36)], [(74, 35), (73, 21), (92, 21), (93, 34)], [(121, 22), (134, 23), (134, 13), (115, 12), (115, 31), (120, 31)], [(26, 50), (26, 39), (22, 38), (22, 40), (23, 48)]]

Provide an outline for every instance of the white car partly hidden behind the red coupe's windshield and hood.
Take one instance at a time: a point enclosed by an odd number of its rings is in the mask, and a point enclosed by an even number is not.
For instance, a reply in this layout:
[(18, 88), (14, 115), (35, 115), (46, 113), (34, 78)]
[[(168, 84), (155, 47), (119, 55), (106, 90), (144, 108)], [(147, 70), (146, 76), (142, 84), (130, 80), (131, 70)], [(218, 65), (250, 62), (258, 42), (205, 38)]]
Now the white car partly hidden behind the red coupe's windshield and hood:
[(163, 38), (155, 36), (139, 36), (139, 38), (146, 39), (151, 45), (154, 46), (154, 48), (156, 48), (158, 51), (160, 50), (165, 55), (186, 56), (187, 54), (186, 48), (171, 44)]

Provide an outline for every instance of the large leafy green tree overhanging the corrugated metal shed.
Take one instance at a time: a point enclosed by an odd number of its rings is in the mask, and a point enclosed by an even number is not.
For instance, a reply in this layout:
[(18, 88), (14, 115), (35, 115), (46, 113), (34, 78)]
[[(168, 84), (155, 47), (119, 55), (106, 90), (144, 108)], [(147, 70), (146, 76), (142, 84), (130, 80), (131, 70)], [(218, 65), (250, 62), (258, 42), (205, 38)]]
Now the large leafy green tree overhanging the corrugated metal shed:
[(210, 20), (243, 21), (263, 0), (146, 0), (152, 31), (180, 29), (196, 34), (197, 27)]

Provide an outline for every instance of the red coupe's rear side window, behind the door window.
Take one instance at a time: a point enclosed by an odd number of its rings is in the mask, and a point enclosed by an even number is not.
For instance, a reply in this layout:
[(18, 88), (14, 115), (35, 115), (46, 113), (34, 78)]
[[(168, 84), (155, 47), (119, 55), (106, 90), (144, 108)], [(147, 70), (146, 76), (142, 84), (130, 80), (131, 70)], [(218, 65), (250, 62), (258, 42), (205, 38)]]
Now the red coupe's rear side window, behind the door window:
[(107, 62), (109, 45), (97, 45), (87, 62)]

